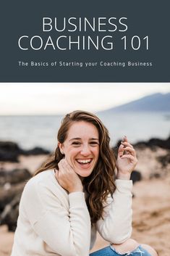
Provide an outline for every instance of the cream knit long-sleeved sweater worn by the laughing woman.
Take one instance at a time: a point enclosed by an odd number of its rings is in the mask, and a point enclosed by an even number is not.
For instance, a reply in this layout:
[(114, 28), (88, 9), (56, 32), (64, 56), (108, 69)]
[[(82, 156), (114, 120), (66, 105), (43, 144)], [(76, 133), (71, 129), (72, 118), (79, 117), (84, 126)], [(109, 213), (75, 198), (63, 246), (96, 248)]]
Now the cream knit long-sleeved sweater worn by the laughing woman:
[(68, 194), (54, 170), (39, 173), (22, 193), (11, 256), (88, 256), (96, 230), (110, 243), (122, 243), (132, 233), (131, 190), (132, 181), (116, 180), (104, 219), (91, 228), (85, 194)]

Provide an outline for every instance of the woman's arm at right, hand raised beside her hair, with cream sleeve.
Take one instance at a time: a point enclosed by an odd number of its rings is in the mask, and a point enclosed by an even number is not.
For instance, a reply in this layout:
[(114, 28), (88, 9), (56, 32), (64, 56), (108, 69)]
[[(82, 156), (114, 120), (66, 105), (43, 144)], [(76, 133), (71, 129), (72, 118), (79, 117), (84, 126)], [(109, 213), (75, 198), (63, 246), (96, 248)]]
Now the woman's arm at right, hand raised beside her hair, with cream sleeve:
[(135, 149), (125, 136), (116, 160), (116, 191), (113, 199), (108, 199), (109, 205), (104, 209), (104, 219), (97, 223), (101, 236), (113, 244), (121, 244), (132, 234), (132, 181), (129, 178), (136, 164)]

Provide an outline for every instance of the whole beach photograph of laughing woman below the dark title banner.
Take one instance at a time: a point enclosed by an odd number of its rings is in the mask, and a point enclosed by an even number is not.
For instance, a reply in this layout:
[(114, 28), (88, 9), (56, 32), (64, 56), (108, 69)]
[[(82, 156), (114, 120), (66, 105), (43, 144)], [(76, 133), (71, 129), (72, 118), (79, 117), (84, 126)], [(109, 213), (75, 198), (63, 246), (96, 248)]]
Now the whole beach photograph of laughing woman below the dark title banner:
[(0, 84), (0, 256), (168, 256), (170, 83)]

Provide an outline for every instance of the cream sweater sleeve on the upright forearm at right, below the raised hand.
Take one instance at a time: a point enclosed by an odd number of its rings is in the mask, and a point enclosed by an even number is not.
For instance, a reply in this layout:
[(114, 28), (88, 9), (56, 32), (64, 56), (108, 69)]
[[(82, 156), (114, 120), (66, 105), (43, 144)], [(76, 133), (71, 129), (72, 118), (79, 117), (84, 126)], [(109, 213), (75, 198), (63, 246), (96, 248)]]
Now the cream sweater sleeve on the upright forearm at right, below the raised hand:
[(111, 244), (121, 244), (132, 234), (132, 181), (116, 180), (113, 198), (109, 197), (103, 219), (98, 220), (99, 234)]

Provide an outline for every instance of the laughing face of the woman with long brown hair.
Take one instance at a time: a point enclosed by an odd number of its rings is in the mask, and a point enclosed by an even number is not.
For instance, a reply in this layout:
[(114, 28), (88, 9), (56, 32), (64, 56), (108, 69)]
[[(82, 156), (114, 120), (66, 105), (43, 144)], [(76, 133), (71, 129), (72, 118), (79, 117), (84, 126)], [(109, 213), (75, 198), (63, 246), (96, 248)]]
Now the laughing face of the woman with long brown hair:
[(59, 148), (75, 173), (81, 177), (88, 177), (98, 161), (98, 129), (92, 123), (75, 122), (69, 128), (64, 143), (59, 143)]

